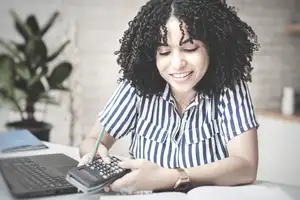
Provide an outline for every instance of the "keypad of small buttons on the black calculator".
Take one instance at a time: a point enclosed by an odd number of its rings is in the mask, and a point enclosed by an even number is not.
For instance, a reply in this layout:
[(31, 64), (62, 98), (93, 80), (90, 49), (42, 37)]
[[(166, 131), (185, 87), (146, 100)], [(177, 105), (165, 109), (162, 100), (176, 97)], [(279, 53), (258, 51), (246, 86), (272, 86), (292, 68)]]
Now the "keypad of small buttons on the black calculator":
[(93, 161), (92, 163), (87, 164), (87, 166), (99, 173), (99, 175), (103, 179), (108, 179), (110, 177), (113, 177), (115, 175), (118, 175), (119, 173), (122, 173), (125, 169), (118, 166), (118, 163), (121, 160), (112, 156), (110, 163), (105, 163), (101, 158), (98, 160)]

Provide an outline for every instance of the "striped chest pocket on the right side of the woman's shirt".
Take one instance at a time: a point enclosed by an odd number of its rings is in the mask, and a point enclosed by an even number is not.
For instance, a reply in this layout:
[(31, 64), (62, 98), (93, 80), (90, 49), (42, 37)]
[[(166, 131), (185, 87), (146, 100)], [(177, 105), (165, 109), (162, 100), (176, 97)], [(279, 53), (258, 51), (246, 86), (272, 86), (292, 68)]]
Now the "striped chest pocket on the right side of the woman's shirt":
[(214, 137), (219, 132), (219, 121), (214, 119), (185, 130), (184, 139), (187, 144), (196, 144)]

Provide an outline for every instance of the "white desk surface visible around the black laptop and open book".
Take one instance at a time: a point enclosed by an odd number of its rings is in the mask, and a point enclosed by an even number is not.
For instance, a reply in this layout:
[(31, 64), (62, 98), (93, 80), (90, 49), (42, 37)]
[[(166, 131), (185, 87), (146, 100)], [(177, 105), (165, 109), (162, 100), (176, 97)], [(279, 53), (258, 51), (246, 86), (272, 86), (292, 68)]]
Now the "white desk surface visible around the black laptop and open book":
[[(64, 153), (75, 160), (79, 160), (79, 149), (74, 147), (63, 146), (59, 144), (46, 143), (49, 149), (38, 150), (38, 151), (27, 151), (13, 154), (0, 154), (0, 158), (11, 157), (11, 156), (24, 156), (24, 155), (40, 155), (40, 154), (51, 154), (51, 153)], [(300, 200), (300, 188), (282, 184), (265, 183), (268, 187), (280, 187), (285, 191), (293, 200)], [(50, 196), (42, 198), (34, 198), (33, 200), (99, 200), (99, 194), (85, 195), (85, 194), (68, 194), (59, 196)], [(1, 200), (13, 200), (14, 198), (10, 195), (6, 184), (3, 181), (2, 176), (0, 176), (0, 199)], [(284, 200), (284, 199), (283, 199)]]

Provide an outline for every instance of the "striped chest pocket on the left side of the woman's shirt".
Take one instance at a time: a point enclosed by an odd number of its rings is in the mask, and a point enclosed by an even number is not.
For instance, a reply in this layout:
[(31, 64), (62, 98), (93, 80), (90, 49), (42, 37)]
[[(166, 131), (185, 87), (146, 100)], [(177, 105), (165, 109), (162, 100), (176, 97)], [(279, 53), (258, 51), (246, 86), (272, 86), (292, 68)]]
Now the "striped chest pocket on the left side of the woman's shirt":
[(168, 136), (167, 129), (142, 118), (137, 121), (136, 133), (144, 139), (158, 143), (164, 143)]

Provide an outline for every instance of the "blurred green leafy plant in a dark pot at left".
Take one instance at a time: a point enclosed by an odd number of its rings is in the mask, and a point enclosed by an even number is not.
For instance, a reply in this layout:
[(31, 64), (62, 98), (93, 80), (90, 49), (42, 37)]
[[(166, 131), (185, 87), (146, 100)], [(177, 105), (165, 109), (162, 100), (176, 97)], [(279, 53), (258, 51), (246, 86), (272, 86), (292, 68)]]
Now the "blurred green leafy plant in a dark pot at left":
[(57, 58), (70, 41), (65, 41), (56, 51), (48, 52), (44, 36), (57, 19), (58, 12), (54, 12), (43, 26), (33, 14), (28, 15), (26, 21), (13, 10), (10, 14), (23, 41), (0, 39), (0, 47), (4, 50), (0, 49), (0, 97), (20, 116), (19, 120), (7, 122), (6, 127), (28, 129), (37, 138), (49, 141), (53, 126), (37, 119), (36, 105), (42, 102), (57, 104), (51, 91), (68, 91), (64, 82), (73, 66), (65, 60), (58, 62)]

